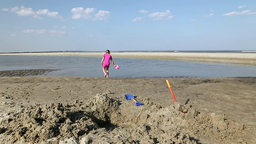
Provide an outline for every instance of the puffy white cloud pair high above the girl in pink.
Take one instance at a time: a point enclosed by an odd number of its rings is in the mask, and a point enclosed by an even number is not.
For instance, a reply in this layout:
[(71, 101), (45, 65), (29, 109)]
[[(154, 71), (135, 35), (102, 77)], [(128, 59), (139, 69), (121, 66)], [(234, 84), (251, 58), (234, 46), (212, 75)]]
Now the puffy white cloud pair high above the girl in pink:
[(99, 10), (98, 13), (94, 14), (95, 11), (95, 8), (72, 8), (72, 19), (106, 20), (110, 17), (110, 12), (108, 11)]

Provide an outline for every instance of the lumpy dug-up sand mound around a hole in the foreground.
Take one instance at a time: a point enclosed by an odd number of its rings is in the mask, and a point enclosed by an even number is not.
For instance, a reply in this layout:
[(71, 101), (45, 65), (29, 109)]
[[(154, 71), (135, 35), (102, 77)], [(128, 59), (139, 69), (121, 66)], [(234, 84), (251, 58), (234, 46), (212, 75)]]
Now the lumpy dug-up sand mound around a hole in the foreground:
[(202, 114), (191, 105), (162, 108), (148, 100), (131, 107), (108, 94), (97, 94), (90, 100), (8, 112), (0, 120), (0, 143), (196, 144), (210, 137), (216, 143), (243, 143), (243, 138), (236, 137), (243, 131), (243, 124), (215, 113)]

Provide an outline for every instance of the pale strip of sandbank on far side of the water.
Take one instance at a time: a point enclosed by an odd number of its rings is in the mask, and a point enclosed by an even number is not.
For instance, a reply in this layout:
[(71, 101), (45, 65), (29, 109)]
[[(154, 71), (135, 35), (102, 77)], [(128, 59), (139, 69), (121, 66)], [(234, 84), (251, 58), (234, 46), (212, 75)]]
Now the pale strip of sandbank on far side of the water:
[[(102, 57), (104, 52), (22, 52), (0, 53), (0, 56), (89, 56)], [(113, 58), (182, 60), (256, 66), (254, 52), (111, 52)]]

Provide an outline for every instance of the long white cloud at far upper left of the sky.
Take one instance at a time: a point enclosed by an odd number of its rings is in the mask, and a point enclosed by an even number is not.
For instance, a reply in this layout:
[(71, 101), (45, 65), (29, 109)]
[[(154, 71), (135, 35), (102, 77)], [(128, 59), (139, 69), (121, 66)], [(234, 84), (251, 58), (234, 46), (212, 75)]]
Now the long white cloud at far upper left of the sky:
[[(8, 9), (4, 9), (8, 10)], [(10, 12), (15, 12), (18, 14), (18, 16), (32, 16), (33, 18), (42, 19), (40, 15), (46, 15), (51, 18), (60, 18), (62, 19), (62, 16), (59, 15), (58, 12), (50, 12), (48, 9), (42, 9), (35, 11), (32, 8), (26, 8), (24, 6), (21, 6), (18, 8), (18, 6), (15, 6), (14, 8), (10, 8)]]

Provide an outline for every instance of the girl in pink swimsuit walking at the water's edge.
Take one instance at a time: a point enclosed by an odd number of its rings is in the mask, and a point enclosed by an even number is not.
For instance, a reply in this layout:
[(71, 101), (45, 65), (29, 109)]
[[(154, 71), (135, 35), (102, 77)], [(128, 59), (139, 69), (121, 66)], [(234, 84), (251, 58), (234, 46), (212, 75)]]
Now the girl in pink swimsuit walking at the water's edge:
[[(104, 77), (107, 77), (107, 78), (108, 78), (108, 75), (109, 75), (108, 68), (109, 68), (109, 65), (110, 65), (110, 62), (109, 62), (110, 60), (111, 60), (111, 63), (113, 64), (113, 66), (116, 67), (116, 65), (114, 64), (114, 61), (112, 60), (112, 56), (110, 55), (110, 51), (106, 50), (106, 54), (103, 55), (103, 58), (101, 60), (101, 65), (103, 65)], [(103, 64), (103, 61), (104, 61), (104, 64)]]

